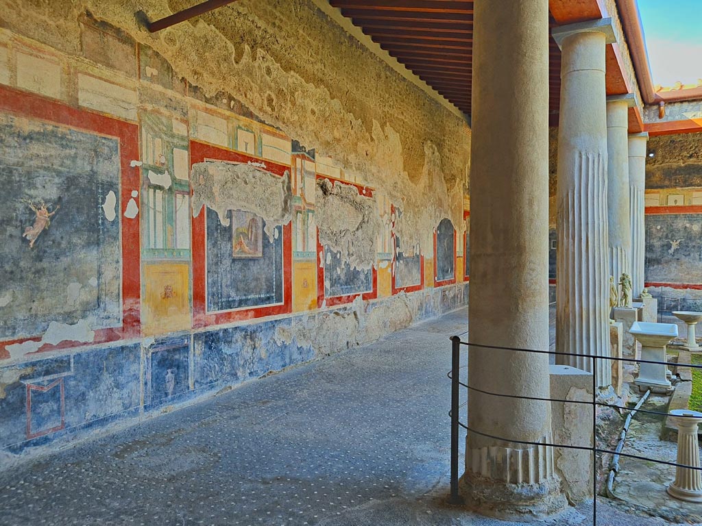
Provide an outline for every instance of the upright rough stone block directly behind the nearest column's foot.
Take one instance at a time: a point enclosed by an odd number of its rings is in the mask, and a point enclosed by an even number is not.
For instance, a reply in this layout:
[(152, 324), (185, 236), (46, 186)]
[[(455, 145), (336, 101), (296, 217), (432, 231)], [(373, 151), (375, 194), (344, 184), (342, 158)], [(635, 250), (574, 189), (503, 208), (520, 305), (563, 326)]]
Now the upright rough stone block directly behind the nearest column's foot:
[[(592, 445), (592, 373), (569, 365), (550, 365), (553, 443), (590, 447)], [(592, 454), (584, 450), (556, 447), (555, 471), (571, 502), (592, 498)]]

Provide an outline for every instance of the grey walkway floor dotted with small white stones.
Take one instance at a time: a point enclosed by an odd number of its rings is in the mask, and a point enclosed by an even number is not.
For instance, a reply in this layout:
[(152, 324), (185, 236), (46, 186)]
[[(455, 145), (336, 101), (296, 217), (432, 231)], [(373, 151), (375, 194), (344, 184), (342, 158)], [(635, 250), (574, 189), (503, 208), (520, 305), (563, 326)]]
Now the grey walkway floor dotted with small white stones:
[[(444, 504), (447, 337), (465, 318), (456, 311), (8, 469), (0, 525), (504, 525)], [(598, 525), (664, 524), (598, 507)], [(590, 525), (590, 510), (543, 524)]]

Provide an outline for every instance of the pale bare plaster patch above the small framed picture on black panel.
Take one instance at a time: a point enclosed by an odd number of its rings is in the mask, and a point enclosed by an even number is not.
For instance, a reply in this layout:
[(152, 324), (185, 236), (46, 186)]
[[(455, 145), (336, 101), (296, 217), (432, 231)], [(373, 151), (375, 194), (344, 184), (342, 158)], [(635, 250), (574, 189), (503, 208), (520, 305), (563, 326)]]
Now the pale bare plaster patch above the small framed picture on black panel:
[(230, 224), (229, 210), (251, 212), (265, 221), (272, 242), (277, 229), (292, 217), (290, 175), (273, 175), (251, 164), (205, 162), (192, 166), (192, 213), (197, 217), (204, 205), (215, 210), (220, 223)]

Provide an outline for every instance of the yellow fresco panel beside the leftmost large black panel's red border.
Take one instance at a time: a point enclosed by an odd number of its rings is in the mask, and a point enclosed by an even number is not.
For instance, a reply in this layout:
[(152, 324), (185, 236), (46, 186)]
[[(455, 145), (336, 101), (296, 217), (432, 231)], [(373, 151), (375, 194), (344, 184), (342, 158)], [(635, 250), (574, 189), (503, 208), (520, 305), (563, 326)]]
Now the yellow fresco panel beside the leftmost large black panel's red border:
[(142, 331), (145, 336), (190, 328), (190, 269), (187, 264), (145, 264), (143, 288)]

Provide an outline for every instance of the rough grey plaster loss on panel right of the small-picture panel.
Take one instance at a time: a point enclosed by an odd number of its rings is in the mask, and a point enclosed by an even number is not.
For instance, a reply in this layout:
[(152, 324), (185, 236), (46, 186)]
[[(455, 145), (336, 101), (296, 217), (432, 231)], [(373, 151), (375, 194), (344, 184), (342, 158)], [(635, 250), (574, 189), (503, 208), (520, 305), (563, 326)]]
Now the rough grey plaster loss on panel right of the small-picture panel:
[(375, 198), (362, 196), (352, 184), (320, 179), (315, 201), (319, 243), (341, 252), (353, 268), (373, 267), (380, 231)]

